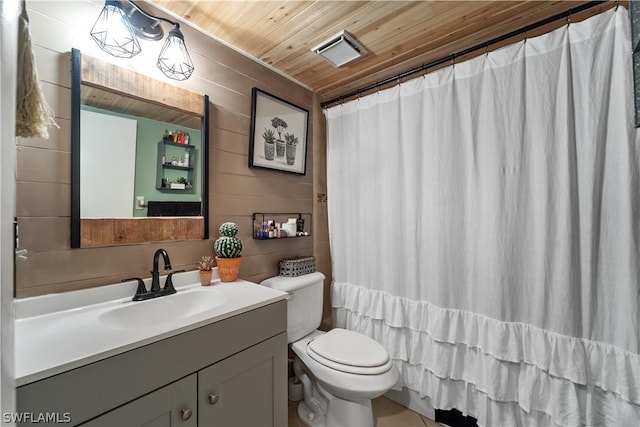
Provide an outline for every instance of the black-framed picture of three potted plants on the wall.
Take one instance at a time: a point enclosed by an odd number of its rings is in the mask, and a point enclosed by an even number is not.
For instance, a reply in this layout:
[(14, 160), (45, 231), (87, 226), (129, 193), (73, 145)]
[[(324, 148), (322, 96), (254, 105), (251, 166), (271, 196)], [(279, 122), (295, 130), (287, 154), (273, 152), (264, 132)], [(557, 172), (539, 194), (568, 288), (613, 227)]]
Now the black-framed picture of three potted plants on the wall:
[(249, 167), (305, 175), (308, 131), (308, 110), (252, 89)]

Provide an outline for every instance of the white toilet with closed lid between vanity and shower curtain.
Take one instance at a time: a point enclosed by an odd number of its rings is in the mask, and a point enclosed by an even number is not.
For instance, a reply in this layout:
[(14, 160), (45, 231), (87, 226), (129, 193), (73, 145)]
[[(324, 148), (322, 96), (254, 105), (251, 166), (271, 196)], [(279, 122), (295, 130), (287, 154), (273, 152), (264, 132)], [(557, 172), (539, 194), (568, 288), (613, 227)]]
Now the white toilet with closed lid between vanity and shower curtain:
[(373, 426), (371, 399), (398, 380), (389, 354), (378, 342), (346, 329), (322, 332), (324, 275), (276, 276), (262, 285), (289, 294), (287, 341), (304, 398), (298, 415), (308, 426)]

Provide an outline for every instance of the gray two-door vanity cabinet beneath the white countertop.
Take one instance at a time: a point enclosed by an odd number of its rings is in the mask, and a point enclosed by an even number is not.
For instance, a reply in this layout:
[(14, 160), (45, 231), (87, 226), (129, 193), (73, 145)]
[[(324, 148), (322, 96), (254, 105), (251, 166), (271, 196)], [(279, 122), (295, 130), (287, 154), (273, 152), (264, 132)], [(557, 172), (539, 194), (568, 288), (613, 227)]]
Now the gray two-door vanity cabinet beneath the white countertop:
[(286, 328), (282, 300), (20, 386), (18, 412), (92, 427), (286, 426)]

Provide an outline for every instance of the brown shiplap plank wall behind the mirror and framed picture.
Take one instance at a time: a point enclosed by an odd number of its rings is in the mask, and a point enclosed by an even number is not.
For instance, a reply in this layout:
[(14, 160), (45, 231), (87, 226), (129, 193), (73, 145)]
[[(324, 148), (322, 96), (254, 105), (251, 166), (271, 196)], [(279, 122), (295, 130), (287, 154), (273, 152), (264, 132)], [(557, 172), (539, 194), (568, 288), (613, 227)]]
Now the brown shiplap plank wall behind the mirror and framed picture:
[[(100, 286), (125, 277), (148, 277), (153, 253), (160, 247), (168, 251), (174, 270), (194, 269), (202, 255), (212, 253), (218, 226), (225, 221), (235, 221), (240, 226), (239, 237), (244, 243), (241, 278), (259, 282), (277, 274), (281, 258), (314, 254), (318, 269), (328, 276), (328, 290), (331, 263), (326, 203), (316, 197), (316, 193), (326, 192), (324, 121), (318, 95), (187, 24), (181, 29), (196, 71), (186, 82), (172, 82), (156, 69), (161, 42), (141, 42), (143, 52), (130, 60), (112, 58), (89, 36), (102, 5), (104, 2), (89, 0), (27, 4), (38, 72), (60, 129), (52, 129), (48, 140), (18, 141), (17, 218), (20, 248), (28, 250), (28, 260), (17, 263), (16, 296)], [(145, 7), (162, 14), (149, 5)], [(209, 95), (209, 240), (70, 249), (71, 48)], [(247, 166), (252, 87), (309, 110), (306, 175)], [(113, 168), (117, 170), (118, 165)], [(314, 212), (314, 236), (253, 240), (253, 212)], [(328, 298), (325, 307), (328, 314)]]

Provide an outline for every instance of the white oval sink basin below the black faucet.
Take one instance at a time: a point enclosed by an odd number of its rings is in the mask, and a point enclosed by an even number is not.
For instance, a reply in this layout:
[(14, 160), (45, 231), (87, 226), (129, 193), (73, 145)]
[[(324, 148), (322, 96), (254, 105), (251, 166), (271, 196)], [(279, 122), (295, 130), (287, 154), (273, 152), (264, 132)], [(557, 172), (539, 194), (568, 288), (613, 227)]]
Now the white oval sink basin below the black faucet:
[(223, 305), (227, 297), (215, 290), (178, 291), (147, 301), (127, 302), (98, 317), (100, 323), (114, 329), (136, 329), (174, 322)]

